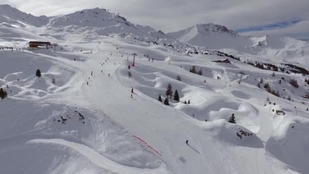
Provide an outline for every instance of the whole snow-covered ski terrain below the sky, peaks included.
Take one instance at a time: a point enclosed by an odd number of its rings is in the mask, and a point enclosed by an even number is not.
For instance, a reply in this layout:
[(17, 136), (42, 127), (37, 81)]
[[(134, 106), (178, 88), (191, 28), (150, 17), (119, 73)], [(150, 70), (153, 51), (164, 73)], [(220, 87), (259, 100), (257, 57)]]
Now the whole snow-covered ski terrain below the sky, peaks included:
[(306, 41), (1, 5), (0, 47), (0, 173), (309, 173)]

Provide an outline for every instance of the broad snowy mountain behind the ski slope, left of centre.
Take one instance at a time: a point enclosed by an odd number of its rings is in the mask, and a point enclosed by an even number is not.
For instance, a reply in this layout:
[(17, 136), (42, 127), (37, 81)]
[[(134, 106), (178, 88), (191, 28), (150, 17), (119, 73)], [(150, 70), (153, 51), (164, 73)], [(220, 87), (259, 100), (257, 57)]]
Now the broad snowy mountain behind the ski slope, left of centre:
[(85, 9), (68, 15), (53, 17), (47, 27), (61, 28), (73, 33), (91, 32), (102, 36), (120, 34), (123, 37), (131, 36), (144, 41), (157, 41), (158, 38), (173, 40), (172, 37), (150, 26), (133, 24), (125, 17), (100, 8)]

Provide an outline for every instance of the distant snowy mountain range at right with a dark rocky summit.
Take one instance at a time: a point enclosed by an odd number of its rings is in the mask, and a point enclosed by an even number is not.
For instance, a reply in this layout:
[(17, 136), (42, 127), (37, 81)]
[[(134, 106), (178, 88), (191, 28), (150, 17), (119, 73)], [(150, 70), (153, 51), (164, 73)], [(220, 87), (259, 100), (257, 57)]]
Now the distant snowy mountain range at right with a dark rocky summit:
[(309, 59), (309, 44), (306, 41), (287, 37), (240, 36), (225, 26), (213, 23), (197, 24), (186, 30), (168, 33), (183, 43), (220, 49), (224, 52), (248, 59), (249, 55), (274, 62), (296, 62), (306, 64)]

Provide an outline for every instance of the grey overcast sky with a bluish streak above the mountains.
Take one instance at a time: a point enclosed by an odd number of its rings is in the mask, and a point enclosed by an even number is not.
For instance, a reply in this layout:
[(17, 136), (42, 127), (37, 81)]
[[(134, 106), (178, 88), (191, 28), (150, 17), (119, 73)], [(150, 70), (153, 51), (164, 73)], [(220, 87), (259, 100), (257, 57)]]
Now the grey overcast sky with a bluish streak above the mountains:
[(102, 7), (132, 23), (174, 32), (197, 23), (225, 25), (241, 35), (309, 40), (309, 0), (1, 0), (33, 15)]

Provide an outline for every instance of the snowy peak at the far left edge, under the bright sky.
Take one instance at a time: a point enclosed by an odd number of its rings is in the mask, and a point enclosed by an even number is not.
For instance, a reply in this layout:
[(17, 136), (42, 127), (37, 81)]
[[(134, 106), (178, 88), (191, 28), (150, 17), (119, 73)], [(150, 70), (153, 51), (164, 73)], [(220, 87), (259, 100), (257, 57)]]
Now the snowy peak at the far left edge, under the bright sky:
[(24, 27), (34, 25), (37, 27), (46, 25), (49, 19), (46, 16), (33, 16), (26, 14), (9, 5), (0, 5), (0, 23), (13, 27)]

